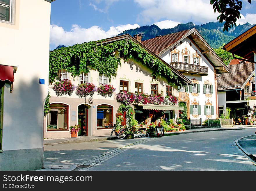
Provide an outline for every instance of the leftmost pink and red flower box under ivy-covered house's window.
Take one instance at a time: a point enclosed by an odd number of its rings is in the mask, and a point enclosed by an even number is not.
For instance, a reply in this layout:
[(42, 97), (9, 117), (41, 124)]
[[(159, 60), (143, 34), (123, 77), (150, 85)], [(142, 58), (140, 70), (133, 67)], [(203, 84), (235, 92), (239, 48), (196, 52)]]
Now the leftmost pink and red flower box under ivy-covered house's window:
[(76, 86), (68, 79), (63, 79), (54, 83), (53, 91), (56, 92), (57, 97), (62, 95), (72, 95)]

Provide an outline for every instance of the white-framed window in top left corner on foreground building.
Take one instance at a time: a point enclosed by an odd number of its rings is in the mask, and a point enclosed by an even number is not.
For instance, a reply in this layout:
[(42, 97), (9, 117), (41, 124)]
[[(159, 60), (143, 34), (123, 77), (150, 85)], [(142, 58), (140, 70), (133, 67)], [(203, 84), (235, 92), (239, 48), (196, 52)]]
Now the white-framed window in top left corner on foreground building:
[(0, 0), (0, 21), (12, 22), (13, 0)]

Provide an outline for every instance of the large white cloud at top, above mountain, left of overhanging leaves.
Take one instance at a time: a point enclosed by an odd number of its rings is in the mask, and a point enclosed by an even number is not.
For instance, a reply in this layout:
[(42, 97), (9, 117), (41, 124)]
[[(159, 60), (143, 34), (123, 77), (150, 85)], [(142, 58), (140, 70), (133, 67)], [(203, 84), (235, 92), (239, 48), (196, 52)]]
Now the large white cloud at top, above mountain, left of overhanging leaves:
[(217, 21), (219, 13), (214, 13), (209, 0), (134, 0), (143, 11), (141, 21), (145, 23), (168, 19), (175, 22), (207, 23)]

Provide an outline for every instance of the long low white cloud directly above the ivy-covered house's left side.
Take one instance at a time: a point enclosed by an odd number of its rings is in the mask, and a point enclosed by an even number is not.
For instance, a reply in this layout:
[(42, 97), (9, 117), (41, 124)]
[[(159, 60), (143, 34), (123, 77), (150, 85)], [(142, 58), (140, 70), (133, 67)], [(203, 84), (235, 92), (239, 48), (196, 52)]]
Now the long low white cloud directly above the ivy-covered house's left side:
[(99, 26), (81, 28), (77, 24), (72, 25), (70, 31), (65, 31), (61, 26), (52, 24), (50, 26), (50, 46), (52, 49), (58, 45), (72, 46), (77, 43), (101, 40), (110, 38), (128, 29), (138, 28), (138, 24), (126, 24), (117, 27), (111, 26), (108, 31), (102, 30)]

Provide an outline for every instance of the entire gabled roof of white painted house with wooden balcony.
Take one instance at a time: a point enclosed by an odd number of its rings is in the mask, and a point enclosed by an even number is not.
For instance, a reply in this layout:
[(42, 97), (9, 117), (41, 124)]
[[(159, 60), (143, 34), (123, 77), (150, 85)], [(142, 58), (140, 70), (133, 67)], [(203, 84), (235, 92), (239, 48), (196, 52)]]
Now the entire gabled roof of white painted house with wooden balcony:
[(179, 42), (184, 40), (185, 38), (189, 38), (192, 42), (194, 42), (198, 49), (201, 50), (205, 58), (207, 58), (208, 61), (214, 66), (217, 73), (230, 72), (227, 66), (217, 56), (214, 50), (210, 47), (210, 45), (204, 40), (204, 38), (195, 28), (180, 31), (177, 33), (171, 33), (169, 35), (164, 35), (149, 40), (144, 40), (141, 43), (152, 52), (156, 53), (157, 56), (161, 56), (170, 48), (173, 48), (175, 45), (177, 46)]

